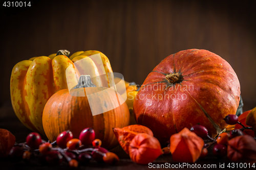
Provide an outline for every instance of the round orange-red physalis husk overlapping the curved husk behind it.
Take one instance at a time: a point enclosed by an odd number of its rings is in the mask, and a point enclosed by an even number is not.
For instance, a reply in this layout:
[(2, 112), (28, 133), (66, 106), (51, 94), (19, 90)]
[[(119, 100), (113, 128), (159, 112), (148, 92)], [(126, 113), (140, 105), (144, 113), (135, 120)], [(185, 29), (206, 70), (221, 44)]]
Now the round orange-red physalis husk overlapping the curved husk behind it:
[(139, 164), (148, 164), (163, 154), (157, 138), (146, 133), (138, 133), (129, 146), (129, 155), (132, 161)]

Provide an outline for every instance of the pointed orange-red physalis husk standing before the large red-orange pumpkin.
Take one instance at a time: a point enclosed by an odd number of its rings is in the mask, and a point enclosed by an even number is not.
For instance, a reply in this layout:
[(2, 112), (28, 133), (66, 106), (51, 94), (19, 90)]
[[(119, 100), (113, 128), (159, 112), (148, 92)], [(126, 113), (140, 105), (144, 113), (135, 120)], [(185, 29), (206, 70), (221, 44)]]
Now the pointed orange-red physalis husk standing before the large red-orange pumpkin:
[(203, 139), (187, 128), (170, 137), (170, 152), (174, 161), (196, 162), (203, 146)]

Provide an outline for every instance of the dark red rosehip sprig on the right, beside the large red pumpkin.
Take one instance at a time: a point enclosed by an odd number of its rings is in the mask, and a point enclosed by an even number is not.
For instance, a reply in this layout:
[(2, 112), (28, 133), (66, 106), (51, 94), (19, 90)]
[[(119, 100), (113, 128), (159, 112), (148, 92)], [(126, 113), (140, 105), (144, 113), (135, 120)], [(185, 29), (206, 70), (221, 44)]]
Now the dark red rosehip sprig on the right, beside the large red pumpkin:
[[(222, 158), (227, 155), (227, 146), (228, 141), (234, 137), (244, 135), (243, 131), (245, 129), (251, 129), (251, 127), (245, 127), (243, 124), (238, 122), (238, 116), (229, 114), (224, 118), (226, 124), (229, 125), (236, 125), (240, 124), (243, 128), (241, 129), (233, 129), (230, 131), (230, 133), (221, 133), (216, 139), (212, 139), (208, 135), (208, 130), (202, 126), (202, 125), (195, 125), (190, 128), (191, 132), (196, 133), (199, 137), (202, 139), (205, 139), (204, 142), (204, 148), (202, 150), (200, 158), (204, 158), (208, 154), (208, 148), (214, 144), (214, 148), (212, 150), (212, 153), (218, 157)], [(210, 142), (210, 143), (209, 143)]]

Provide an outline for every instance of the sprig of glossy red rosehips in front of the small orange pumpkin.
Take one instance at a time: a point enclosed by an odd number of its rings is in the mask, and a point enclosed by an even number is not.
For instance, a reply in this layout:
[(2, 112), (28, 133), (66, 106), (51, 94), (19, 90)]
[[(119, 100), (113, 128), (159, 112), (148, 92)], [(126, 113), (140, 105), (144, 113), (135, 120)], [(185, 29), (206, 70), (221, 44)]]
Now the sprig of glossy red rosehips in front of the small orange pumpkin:
[(119, 161), (116, 154), (101, 147), (101, 140), (95, 139), (92, 128), (82, 130), (79, 139), (73, 138), (69, 130), (61, 132), (52, 143), (42, 140), (38, 133), (32, 132), (27, 136), (25, 143), (15, 143), (9, 153), (13, 160), (28, 161), (33, 156), (42, 158), (49, 165), (59, 165), (66, 161), (70, 167), (86, 164), (91, 159), (108, 164)]

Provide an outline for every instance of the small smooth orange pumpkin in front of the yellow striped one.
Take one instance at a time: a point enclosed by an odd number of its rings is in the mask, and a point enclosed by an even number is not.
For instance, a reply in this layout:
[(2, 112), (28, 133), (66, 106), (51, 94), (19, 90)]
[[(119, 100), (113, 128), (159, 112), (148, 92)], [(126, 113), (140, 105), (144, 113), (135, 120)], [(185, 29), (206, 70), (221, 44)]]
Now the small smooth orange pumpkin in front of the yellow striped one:
[[(105, 92), (106, 88), (104, 87), (78, 88), (71, 92), (81, 94), (84, 93), (84, 89), (93, 93), (100, 91), (101, 101), (95, 100), (95, 103), (114, 102), (117, 99), (115, 93)], [(108, 88), (108, 90), (112, 89)], [(123, 100), (120, 94), (118, 94), (118, 99)], [(107, 102), (102, 107), (110, 107), (110, 103)], [(101, 109), (101, 105), (99, 104), (96, 109)], [(70, 130), (74, 138), (79, 138), (79, 134), (84, 128), (91, 127), (95, 131), (95, 138), (102, 140), (102, 147), (112, 149), (118, 145), (112, 128), (128, 126), (130, 112), (127, 104), (123, 101), (119, 107), (93, 116), (87, 96), (73, 96), (68, 89), (63, 89), (53, 94), (47, 102), (42, 115), (42, 124), (50, 141), (56, 140), (58, 134), (66, 130)]]

